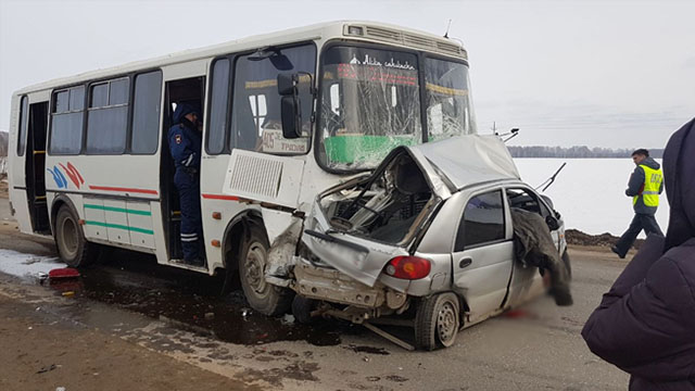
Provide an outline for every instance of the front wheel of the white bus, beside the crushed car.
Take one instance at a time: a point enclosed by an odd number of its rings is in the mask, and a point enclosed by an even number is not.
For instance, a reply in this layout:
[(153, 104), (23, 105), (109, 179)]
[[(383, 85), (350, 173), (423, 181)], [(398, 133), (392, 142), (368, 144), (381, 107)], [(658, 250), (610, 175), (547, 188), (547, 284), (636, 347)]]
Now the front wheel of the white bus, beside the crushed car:
[(266, 282), (265, 268), (268, 261), (268, 239), (261, 227), (252, 225), (239, 257), (239, 279), (247, 301), (252, 308), (265, 315), (285, 314), (291, 305), (289, 289)]

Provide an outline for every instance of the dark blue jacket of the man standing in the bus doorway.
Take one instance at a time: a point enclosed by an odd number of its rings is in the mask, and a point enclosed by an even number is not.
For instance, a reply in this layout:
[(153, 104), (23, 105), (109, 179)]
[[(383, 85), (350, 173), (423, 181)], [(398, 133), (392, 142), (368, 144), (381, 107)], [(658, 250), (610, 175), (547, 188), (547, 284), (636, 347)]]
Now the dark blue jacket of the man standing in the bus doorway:
[(169, 128), (168, 140), (177, 169), (180, 167), (200, 169), (202, 135), (194, 128), (195, 124), (191, 124), (185, 118), (187, 114), (193, 112), (197, 113), (193, 106), (181, 103), (176, 108), (172, 117), (172, 122), (176, 125)]

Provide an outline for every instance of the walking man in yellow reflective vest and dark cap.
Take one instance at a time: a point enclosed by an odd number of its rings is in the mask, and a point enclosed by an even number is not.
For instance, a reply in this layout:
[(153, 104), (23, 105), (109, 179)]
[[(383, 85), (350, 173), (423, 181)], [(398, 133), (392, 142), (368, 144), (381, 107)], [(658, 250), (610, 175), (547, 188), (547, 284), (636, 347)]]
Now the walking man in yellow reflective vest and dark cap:
[(659, 194), (664, 191), (661, 166), (649, 157), (649, 151), (639, 149), (632, 152), (632, 161), (636, 165), (630, 176), (626, 195), (632, 197), (634, 217), (628, 230), (622, 234), (616, 245), (610, 250), (621, 258), (634, 243), (637, 235), (644, 229), (646, 235), (656, 234), (664, 236), (654, 215), (659, 206)]

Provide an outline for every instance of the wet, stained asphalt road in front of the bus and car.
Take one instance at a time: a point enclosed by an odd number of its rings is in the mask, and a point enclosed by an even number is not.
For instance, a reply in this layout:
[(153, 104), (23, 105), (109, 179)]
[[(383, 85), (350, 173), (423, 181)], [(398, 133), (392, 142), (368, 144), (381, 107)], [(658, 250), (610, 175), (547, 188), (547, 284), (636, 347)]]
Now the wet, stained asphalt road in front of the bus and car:
[[(5, 203), (0, 199), (0, 212)], [(50, 241), (20, 235), (7, 224), (0, 225), (0, 247), (53, 252)], [(84, 270), (73, 286), (0, 276), (0, 294), (16, 305), (38, 305), (37, 314), (59, 324), (98, 330), (263, 389), (624, 390), (628, 376), (594, 356), (580, 331), (626, 263), (586, 248), (570, 249), (570, 256), (573, 306), (539, 298), (462, 331), (454, 346), (434, 352), (406, 352), (334, 320), (307, 327), (270, 319), (250, 311), (238, 291), (219, 298), (219, 280), (125, 251)], [(65, 298), (63, 291), (76, 294)], [(128, 368), (122, 370), (127, 376)]]

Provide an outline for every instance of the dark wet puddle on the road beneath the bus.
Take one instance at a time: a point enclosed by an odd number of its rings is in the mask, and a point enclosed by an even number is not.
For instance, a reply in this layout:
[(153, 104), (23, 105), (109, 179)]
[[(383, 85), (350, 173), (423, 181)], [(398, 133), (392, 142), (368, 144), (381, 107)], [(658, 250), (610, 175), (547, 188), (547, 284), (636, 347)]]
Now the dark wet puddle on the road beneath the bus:
[(340, 335), (358, 332), (356, 327), (338, 320), (300, 325), (288, 321), (288, 316), (268, 317), (251, 310), (240, 290), (222, 297), (222, 278), (161, 266), (131, 253), (119, 255), (128, 260), (110, 260), (80, 269), (79, 278), (51, 281), (50, 287), (61, 294), (74, 292), (78, 300), (172, 319), (178, 328), (190, 326), (189, 330), (208, 331), (204, 333), (237, 344), (303, 340), (319, 346), (337, 345)]

